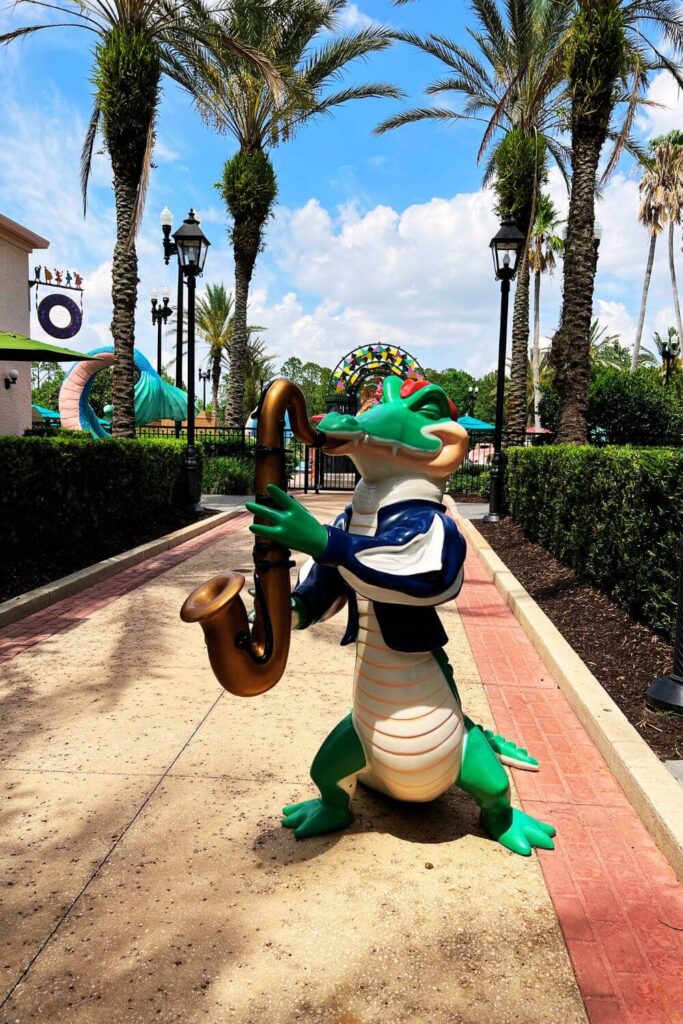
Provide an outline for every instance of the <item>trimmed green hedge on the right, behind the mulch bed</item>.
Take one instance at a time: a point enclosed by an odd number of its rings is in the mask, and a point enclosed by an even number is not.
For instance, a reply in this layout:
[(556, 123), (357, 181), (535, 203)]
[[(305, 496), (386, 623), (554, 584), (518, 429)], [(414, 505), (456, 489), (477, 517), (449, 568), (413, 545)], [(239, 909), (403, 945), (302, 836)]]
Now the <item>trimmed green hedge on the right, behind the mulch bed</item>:
[(683, 450), (509, 449), (507, 498), (530, 540), (673, 640)]

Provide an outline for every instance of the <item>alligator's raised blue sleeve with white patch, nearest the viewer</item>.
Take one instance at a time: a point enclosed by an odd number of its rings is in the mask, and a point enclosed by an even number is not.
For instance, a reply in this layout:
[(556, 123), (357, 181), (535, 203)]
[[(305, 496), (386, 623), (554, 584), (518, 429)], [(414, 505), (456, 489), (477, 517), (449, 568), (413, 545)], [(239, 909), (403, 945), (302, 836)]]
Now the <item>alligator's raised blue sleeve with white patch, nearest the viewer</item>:
[(440, 507), (392, 516), (375, 537), (326, 526), (328, 545), (319, 558), (343, 570), (359, 594), (375, 601), (440, 604), (460, 591), (466, 545)]

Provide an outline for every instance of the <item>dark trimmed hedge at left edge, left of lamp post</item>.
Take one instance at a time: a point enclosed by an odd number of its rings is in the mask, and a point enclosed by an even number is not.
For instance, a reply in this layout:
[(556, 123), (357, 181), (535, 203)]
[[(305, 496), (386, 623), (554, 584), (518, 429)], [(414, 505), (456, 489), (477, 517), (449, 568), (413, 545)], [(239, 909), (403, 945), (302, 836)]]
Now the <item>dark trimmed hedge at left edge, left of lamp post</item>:
[(0, 437), (0, 599), (185, 523), (183, 454), (175, 440)]

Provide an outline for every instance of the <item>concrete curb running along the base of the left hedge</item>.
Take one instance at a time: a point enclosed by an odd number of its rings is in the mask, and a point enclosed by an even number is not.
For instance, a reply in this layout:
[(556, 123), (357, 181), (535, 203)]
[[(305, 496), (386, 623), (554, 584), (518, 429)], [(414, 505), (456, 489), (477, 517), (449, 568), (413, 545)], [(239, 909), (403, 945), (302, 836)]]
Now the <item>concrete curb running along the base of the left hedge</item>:
[(101, 583), (102, 580), (108, 580), (109, 577), (121, 572), (122, 569), (130, 568), (131, 565), (137, 565), (138, 562), (143, 562), (145, 559), (152, 558), (153, 555), (168, 551), (170, 548), (177, 548), (179, 544), (184, 544), (185, 541), (191, 541), (195, 537), (200, 537), (210, 529), (215, 529), (216, 526), (221, 526), (244, 511), (244, 506), (236, 505), (234, 508), (225, 512), (219, 512), (208, 519), (190, 523), (189, 526), (183, 526), (172, 534), (165, 534), (164, 537), (158, 537), (156, 541), (140, 544), (137, 548), (123, 551), (120, 555), (104, 558), (101, 562), (95, 562), (94, 565), (88, 565), (77, 572), (61, 577), (54, 583), (48, 583), (44, 587), (37, 587), (26, 594), (19, 594), (18, 597), (3, 601), (0, 603), (0, 627), (9, 626), (10, 623), (25, 618), (26, 615), (31, 615), (34, 611), (47, 608), (56, 601), (63, 600), (65, 597), (80, 594), (81, 591), (93, 584)]

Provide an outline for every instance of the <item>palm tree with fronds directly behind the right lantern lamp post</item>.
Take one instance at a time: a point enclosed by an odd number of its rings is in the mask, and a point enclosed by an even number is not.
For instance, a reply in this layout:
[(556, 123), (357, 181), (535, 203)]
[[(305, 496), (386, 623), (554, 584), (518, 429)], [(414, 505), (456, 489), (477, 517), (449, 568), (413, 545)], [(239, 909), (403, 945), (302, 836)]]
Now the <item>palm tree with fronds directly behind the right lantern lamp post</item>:
[[(568, 6), (564, 0), (517, 0), (506, 3), (503, 11), (494, 0), (471, 0), (470, 6), (477, 24), (467, 31), (476, 51), (439, 35), (422, 39), (414, 33), (398, 33), (398, 38), (445, 66), (445, 77), (430, 85), (427, 93), (456, 93), (462, 110), (435, 105), (403, 111), (376, 130), (381, 133), (423, 120), (481, 122), (478, 159), (487, 154), (484, 184), (493, 183), (497, 211), (513, 217), (528, 242), (548, 159), (552, 157), (563, 174), (568, 162), (568, 151), (557, 138)], [(509, 436), (518, 440), (526, 428), (528, 292), (529, 266), (524, 254), (512, 319), (507, 420)]]

